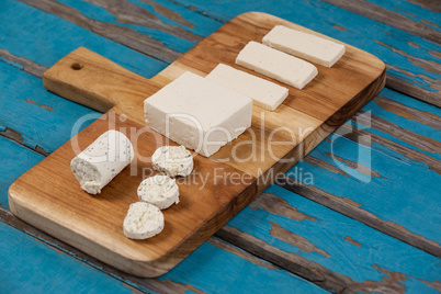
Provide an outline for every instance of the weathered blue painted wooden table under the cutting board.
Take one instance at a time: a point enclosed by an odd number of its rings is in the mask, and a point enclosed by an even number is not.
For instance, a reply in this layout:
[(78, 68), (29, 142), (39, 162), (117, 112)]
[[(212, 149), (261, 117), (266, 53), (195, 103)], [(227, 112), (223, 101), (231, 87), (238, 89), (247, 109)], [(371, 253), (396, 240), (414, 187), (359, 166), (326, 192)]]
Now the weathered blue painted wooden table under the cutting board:
[[(386, 88), (189, 258), (125, 274), (14, 217), (8, 188), (90, 109), (42, 75), (79, 46), (150, 78), (263, 11), (380, 57)], [(441, 2), (1, 0), (0, 293), (441, 292)]]

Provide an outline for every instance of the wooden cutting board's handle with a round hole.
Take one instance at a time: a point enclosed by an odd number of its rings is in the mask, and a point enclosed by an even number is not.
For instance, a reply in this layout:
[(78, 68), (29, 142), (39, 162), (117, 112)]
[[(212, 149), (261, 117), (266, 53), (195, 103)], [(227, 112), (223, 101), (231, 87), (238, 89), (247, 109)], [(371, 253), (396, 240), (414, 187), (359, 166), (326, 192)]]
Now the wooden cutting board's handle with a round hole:
[[(100, 112), (129, 113), (143, 123), (143, 101), (159, 90), (152, 81), (79, 47), (43, 75), (44, 87), (71, 101)], [(131, 87), (127, 88), (127, 84)]]

